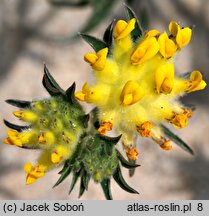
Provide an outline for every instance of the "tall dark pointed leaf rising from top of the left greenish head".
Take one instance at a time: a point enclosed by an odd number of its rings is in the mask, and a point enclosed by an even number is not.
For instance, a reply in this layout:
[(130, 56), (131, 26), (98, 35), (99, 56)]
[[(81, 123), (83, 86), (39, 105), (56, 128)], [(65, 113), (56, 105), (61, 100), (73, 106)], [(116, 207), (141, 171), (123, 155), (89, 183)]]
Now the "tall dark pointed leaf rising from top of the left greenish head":
[(46, 65), (44, 65), (44, 76), (43, 76), (42, 83), (51, 96), (65, 94), (63, 89), (58, 85), (58, 83), (54, 80), (52, 75), (49, 73), (49, 70), (47, 69)]

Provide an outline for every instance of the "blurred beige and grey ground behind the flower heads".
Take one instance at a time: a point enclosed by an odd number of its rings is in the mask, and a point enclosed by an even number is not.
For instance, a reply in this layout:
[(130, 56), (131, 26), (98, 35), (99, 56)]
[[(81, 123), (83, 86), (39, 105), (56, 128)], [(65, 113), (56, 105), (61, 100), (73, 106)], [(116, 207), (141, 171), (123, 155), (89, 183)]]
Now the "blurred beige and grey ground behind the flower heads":
[[(3, 119), (18, 122), (12, 116), (15, 108), (4, 100), (47, 97), (41, 84), (44, 62), (64, 89), (74, 81), (80, 89), (84, 81), (91, 79), (91, 69), (83, 61), (83, 55), (91, 48), (80, 38), (73, 41), (71, 38), (79, 31), (101, 38), (113, 18), (125, 18), (121, 0), (106, 1), (106, 5), (102, 0), (90, 0), (90, 3), (68, 0), (68, 4), (63, 1), (62, 4), (58, 0), (0, 1), (0, 199), (77, 199), (79, 184), (68, 195), (70, 178), (52, 189), (59, 169), (26, 186), (23, 165), (28, 161), (34, 163), (39, 152), (2, 144), (7, 131)], [(144, 20), (145, 27), (149, 22), (149, 29), (164, 31), (171, 20), (194, 26), (190, 45), (177, 56), (176, 70), (183, 73), (198, 69), (209, 82), (208, 0), (132, 0), (128, 3)], [(140, 194), (128, 194), (112, 183), (114, 199), (209, 199), (209, 90), (195, 92), (184, 101), (197, 109), (188, 127), (178, 134), (193, 148), (195, 155), (175, 145), (172, 151), (165, 152), (150, 140), (140, 139), (138, 163), (141, 167), (132, 178), (123, 170), (127, 182)], [(104, 199), (104, 196), (100, 186), (91, 182), (82, 199)]]

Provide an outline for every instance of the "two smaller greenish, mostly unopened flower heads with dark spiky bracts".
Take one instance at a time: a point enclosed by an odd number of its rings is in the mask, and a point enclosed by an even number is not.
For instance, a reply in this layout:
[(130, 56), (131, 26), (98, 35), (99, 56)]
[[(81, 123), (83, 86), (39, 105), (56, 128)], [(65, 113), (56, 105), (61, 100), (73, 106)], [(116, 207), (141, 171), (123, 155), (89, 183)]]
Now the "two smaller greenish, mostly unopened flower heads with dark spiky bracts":
[(138, 165), (127, 161), (115, 148), (121, 136), (107, 137), (95, 128), (97, 111), (86, 115), (76, 101), (75, 84), (64, 91), (53, 79), (45, 66), (43, 85), (52, 97), (32, 102), (7, 100), (19, 107), (13, 114), (28, 126), (19, 126), (4, 121), (10, 128), (5, 144), (26, 149), (40, 149), (36, 165), (26, 163), (26, 184), (32, 184), (52, 168), (64, 165), (55, 186), (59, 185), (70, 173), (73, 179), (69, 193), (80, 178), (79, 197), (88, 189), (92, 177), (100, 183), (107, 199), (112, 199), (111, 177), (129, 193), (138, 193), (123, 179), (120, 165), (133, 169)]

